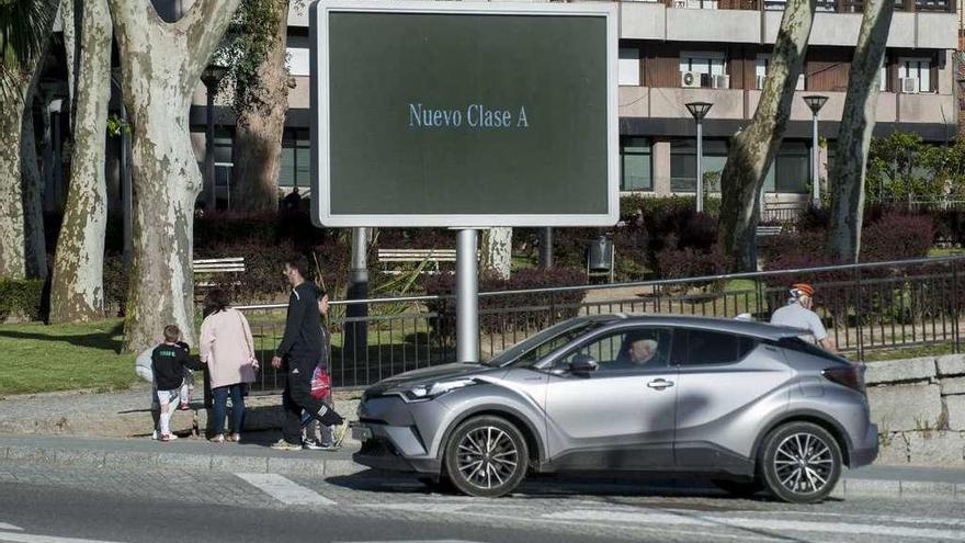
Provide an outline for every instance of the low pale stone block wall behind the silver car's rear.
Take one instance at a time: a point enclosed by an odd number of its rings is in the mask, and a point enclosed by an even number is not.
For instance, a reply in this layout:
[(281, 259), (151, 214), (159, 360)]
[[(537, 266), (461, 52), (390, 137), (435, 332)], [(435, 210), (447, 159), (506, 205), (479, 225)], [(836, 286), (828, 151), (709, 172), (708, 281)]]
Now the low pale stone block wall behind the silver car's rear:
[(870, 362), (878, 464), (965, 467), (965, 354)]

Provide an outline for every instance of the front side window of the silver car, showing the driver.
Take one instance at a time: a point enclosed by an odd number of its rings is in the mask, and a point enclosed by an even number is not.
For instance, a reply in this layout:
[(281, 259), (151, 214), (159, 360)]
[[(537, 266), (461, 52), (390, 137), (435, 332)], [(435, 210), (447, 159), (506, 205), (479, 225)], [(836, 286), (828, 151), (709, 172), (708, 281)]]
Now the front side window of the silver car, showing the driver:
[(567, 367), (579, 354), (593, 357), (598, 372), (667, 367), (672, 340), (672, 332), (666, 328), (622, 329), (567, 352), (556, 367)]

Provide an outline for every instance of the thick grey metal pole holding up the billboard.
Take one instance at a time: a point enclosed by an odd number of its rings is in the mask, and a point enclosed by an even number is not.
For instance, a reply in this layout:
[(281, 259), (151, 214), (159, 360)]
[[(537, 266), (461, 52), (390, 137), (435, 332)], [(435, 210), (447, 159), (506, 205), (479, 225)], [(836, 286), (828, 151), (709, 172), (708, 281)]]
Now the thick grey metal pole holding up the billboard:
[(462, 229), (456, 238), (456, 359), (479, 361), (479, 270), (476, 230)]

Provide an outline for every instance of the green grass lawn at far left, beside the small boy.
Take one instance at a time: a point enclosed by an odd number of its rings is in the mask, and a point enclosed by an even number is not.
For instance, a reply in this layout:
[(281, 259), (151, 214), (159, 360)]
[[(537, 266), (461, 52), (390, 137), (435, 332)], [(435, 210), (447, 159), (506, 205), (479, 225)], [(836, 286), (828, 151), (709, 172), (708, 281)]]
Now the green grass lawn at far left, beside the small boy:
[(127, 388), (134, 358), (118, 354), (121, 319), (81, 325), (0, 325), (0, 395)]

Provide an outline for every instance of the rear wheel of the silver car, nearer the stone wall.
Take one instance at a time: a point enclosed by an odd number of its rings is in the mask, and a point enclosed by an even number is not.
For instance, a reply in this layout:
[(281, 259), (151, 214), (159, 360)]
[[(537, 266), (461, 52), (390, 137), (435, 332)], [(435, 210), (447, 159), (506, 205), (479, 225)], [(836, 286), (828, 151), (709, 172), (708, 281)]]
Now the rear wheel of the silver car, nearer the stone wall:
[(765, 439), (760, 471), (768, 489), (792, 504), (821, 501), (841, 477), (838, 441), (810, 422), (779, 427)]

